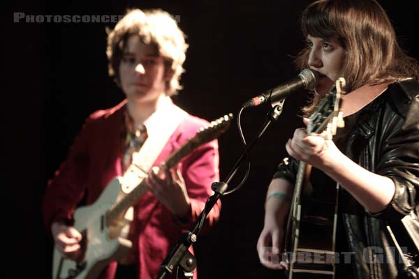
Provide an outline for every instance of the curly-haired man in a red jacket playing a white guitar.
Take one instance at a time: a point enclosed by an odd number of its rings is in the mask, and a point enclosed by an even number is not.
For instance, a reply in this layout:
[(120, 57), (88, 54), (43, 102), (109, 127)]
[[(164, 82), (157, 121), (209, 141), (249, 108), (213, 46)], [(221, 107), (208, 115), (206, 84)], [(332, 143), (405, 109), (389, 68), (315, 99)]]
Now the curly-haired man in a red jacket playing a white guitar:
[[(73, 213), (83, 197), (87, 205), (93, 204), (113, 178), (126, 172), (133, 154), (152, 146), (147, 141), (168, 133), (168, 128), (172, 132), (166, 135), (166, 144), (152, 154), (154, 166), (207, 124), (170, 99), (182, 89), (179, 78), (187, 47), (177, 22), (162, 10), (131, 10), (108, 33), (109, 73), (126, 99), (89, 116), (44, 197), (45, 225), (65, 258), (79, 260), (83, 251), (83, 234), (73, 227)], [(131, 274), (131, 278), (145, 279), (159, 273), (182, 230), (193, 224), (212, 195), (212, 182), (219, 180), (216, 140), (201, 145), (181, 163), (151, 172), (146, 179), (149, 191), (133, 205), (127, 232), (131, 250), (119, 262), (110, 262), (100, 278)], [(218, 202), (206, 226), (219, 219), (220, 209)]]

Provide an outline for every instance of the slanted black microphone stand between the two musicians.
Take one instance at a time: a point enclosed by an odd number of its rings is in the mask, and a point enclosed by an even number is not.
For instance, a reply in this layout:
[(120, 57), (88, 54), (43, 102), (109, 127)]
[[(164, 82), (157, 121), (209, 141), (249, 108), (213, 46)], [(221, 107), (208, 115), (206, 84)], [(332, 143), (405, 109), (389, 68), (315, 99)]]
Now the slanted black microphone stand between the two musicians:
[(239, 169), (240, 164), (242, 163), (242, 160), (245, 157), (247, 157), (247, 153), (249, 153), (256, 141), (265, 133), (266, 129), (270, 126), (270, 124), (273, 121), (277, 121), (279, 115), (281, 115), (284, 101), (285, 99), (282, 99), (271, 104), (272, 110), (268, 112), (265, 123), (263, 123), (263, 126), (258, 131), (256, 137), (253, 137), (253, 140), (251, 140), (250, 144), (248, 145), (249, 147), (246, 149), (246, 151), (242, 153), (240, 158), (236, 161), (235, 165), (233, 166), (233, 169), (227, 175), (226, 182), (221, 181), (212, 183), (211, 188), (214, 191), (214, 195), (207, 199), (203, 211), (200, 213), (200, 216), (192, 225), (191, 229), (189, 229), (188, 232), (184, 232), (181, 234), (175, 247), (172, 248), (166, 259), (161, 264), (161, 271), (159, 275), (156, 277), (156, 279), (165, 278), (166, 275), (168, 273), (172, 273), (178, 265), (182, 267), (186, 278), (193, 277), (192, 271), (196, 268), (196, 258), (191, 254), (191, 252), (189, 252), (188, 249), (191, 246), (191, 244), (196, 243), (197, 234), (200, 231), (200, 227), (202, 227), (203, 225), (203, 220), (205, 220), (205, 216), (207, 216), (207, 214), (210, 213), (212, 207), (226, 192), (228, 188), (228, 183), (230, 183), (231, 179), (233, 179), (233, 177), (237, 173), (237, 170)]

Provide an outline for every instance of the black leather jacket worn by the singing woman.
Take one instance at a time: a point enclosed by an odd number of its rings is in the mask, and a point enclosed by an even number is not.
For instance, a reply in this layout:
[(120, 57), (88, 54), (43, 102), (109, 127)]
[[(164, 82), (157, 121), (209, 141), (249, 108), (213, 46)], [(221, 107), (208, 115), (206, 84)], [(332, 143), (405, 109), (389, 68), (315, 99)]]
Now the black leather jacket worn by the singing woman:
[[(341, 188), (346, 208), (341, 218), (355, 260), (354, 278), (401, 278), (399, 259), (385, 234), (385, 225), (399, 220), (419, 204), (419, 83), (404, 80), (391, 84), (381, 96), (363, 108), (348, 135), (346, 156), (360, 166), (395, 183), (395, 195), (388, 207), (367, 212)], [(280, 164), (274, 178), (293, 183), (297, 162)], [(372, 259), (372, 260), (371, 260)], [(399, 277), (398, 277), (399, 276)]]

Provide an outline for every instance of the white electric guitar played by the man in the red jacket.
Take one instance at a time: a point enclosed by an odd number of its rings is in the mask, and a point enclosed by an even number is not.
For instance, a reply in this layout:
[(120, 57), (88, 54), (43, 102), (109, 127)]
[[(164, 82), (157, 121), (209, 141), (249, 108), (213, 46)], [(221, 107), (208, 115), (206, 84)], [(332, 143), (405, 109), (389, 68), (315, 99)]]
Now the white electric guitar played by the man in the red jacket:
[[(160, 167), (174, 167), (198, 146), (224, 133), (232, 119), (233, 114), (228, 114), (201, 128)], [(132, 246), (131, 241), (121, 235), (132, 220), (126, 218), (126, 213), (148, 190), (144, 182), (147, 174), (142, 174), (140, 169), (136, 168), (135, 164), (132, 164), (124, 176), (117, 176), (108, 183), (94, 204), (82, 206), (75, 211), (74, 227), (82, 234), (82, 255), (73, 261), (62, 257), (55, 248), (52, 262), (53, 279), (97, 278), (109, 262), (126, 255)]]

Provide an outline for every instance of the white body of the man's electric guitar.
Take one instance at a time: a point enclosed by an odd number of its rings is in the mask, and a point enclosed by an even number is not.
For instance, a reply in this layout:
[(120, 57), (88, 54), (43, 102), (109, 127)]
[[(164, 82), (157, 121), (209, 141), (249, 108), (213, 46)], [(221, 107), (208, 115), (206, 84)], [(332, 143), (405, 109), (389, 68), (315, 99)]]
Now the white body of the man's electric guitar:
[[(131, 248), (131, 241), (119, 237), (127, 222), (112, 225), (105, 223), (105, 213), (122, 194), (119, 177), (105, 188), (101, 196), (90, 206), (82, 206), (74, 213), (74, 227), (83, 235), (84, 257), (78, 262), (65, 259), (54, 249), (52, 278), (98, 278), (109, 262), (120, 259)], [(83, 249), (83, 248), (82, 248)]]

